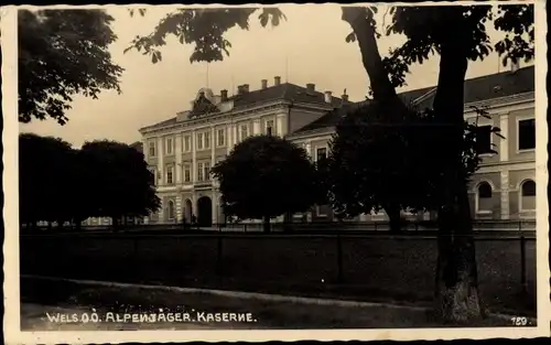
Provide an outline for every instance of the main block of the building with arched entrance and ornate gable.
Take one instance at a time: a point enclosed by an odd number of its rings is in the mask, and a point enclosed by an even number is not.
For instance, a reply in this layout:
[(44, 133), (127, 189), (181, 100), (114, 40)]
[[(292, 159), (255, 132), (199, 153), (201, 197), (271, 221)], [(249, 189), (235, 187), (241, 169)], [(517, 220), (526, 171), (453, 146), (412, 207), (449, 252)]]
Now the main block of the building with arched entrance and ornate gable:
[(347, 104), (346, 98), (321, 93), (314, 84), (281, 83), (279, 76), (271, 86), (267, 79), (260, 80), (256, 90), (240, 85), (233, 96), (227, 90), (214, 95), (208, 88), (201, 89), (190, 110), (140, 129), (143, 153), (162, 201), (161, 211), (147, 222), (224, 222), (210, 168), (246, 138), (268, 132), (287, 137)]

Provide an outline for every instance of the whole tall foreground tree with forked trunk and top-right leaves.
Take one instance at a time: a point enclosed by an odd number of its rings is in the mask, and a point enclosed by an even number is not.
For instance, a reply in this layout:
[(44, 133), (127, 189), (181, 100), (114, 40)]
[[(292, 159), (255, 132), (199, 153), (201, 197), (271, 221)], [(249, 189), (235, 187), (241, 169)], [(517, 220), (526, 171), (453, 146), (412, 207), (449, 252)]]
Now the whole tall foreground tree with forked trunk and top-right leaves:
[(386, 60), (377, 47), (374, 10), (343, 9), (343, 20), (350, 24), (358, 41), (374, 98), (397, 122), (407, 110), (395, 87), (403, 84), (409, 65), (440, 54), (433, 126), (441, 131), (439, 143), (447, 153), (437, 169), (443, 193), (439, 201), (436, 311), (446, 321), (467, 321), (483, 314), (466, 191), (467, 171), (458, 169), (465, 147), (463, 107), (468, 61), (489, 54), (491, 45), (485, 23), (493, 19), (496, 29), (509, 32), (495, 44), (504, 62), (533, 56), (533, 6), (498, 8), (497, 18), (488, 6), (395, 8), (388, 32), (404, 34), (408, 40)]

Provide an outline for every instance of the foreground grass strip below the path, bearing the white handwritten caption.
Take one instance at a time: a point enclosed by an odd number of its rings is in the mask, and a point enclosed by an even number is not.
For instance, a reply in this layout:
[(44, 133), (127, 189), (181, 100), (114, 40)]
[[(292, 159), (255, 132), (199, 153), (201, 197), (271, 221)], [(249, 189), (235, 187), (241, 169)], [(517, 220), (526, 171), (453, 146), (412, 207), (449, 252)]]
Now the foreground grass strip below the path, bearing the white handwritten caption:
[[(95, 309), (99, 315), (106, 312), (147, 313), (160, 309), (172, 312), (234, 312), (251, 313), (253, 322), (249, 323), (156, 323), (156, 324), (93, 324), (90, 330), (137, 330), (137, 328), (407, 328), (440, 327), (443, 325), (431, 320), (431, 315), (422, 310), (408, 308), (388, 308), (385, 305), (321, 305), (303, 302), (263, 301), (245, 298), (229, 298), (206, 293), (186, 293), (181, 291), (144, 290), (140, 288), (119, 288), (83, 285), (72, 282), (58, 282), (36, 279), (22, 280), (22, 328), (40, 330), (83, 330), (90, 328), (86, 324), (52, 324), (40, 322), (37, 314), (45, 312), (90, 312)], [(51, 293), (55, 291), (55, 293)], [(31, 304), (40, 302), (41, 304)], [(61, 306), (60, 306), (61, 305)], [(100, 305), (98, 308), (98, 305)], [(32, 306), (32, 308), (31, 308)], [(29, 310), (34, 310), (34, 315)], [(60, 311), (61, 310), (61, 311)], [(486, 319), (467, 326), (507, 326), (506, 320)]]

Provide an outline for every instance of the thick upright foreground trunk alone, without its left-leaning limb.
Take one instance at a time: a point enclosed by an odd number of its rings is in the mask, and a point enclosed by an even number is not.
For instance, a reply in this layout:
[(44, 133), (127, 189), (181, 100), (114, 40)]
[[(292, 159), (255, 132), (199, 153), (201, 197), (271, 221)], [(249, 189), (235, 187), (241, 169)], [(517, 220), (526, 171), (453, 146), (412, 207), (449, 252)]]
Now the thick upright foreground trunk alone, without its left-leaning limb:
[[(441, 43), (440, 75), (434, 110), (442, 123), (443, 205), (439, 211), (439, 259), (436, 263), (436, 314), (445, 322), (465, 323), (483, 313), (478, 298), (477, 270), (467, 182), (463, 170), (464, 83), (467, 57), (462, 30), (462, 9), (444, 9), (447, 32)], [(443, 30), (446, 30), (443, 29)]]

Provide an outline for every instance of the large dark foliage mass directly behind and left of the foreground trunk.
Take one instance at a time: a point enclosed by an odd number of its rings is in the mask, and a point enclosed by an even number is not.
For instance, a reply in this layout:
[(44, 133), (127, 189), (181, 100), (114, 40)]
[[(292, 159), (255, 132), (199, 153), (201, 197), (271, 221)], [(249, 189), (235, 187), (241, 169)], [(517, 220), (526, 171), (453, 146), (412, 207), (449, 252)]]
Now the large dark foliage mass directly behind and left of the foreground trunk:
[[(484, 109), (476, 111), (487, 117)], [(446, 154), (440, 145), (445, 131), (432, 109), (410, 105), (400, 116), (401, 121), (395, 122), (380, 104), (371, 101), (348, 112), (336, 126), (324, 176), (337, 213), (354, 217), (389, 205), (413, 212), (442, 206), (444, 181), (439, 158)], [(491, 127), (496, 136), (499, 131)], [(464, 183), (482, 161), (477, 132), (477, 121), (464, 122), (465, 147), (457, 166), (465, 172)]]

